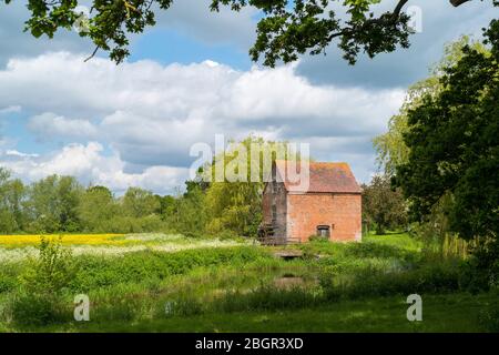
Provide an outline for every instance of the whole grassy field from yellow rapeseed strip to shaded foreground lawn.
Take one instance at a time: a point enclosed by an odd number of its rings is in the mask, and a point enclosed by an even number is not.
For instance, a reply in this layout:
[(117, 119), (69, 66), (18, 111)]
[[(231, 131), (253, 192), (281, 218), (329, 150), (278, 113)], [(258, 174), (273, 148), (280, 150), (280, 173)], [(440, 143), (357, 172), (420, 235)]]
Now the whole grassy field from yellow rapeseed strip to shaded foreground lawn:
[[(303, 257), (292, 261), (274, 255), (281, 247), (246, 240), (63, 235), (72, 273), (50, 295), (43, 287), (58, 278), (33, 276), (39, 241), (0, 236), (0, 331), (495, 331), (487, 318), (497, 292), (468, 293), (461, 261), (436, 260), (404, 233), (293, 245)], [(414, 293), (422, 297), (422, 322), (406, 317)], [(78, 294), (89, 296), (89, 322), (73, 320)]]

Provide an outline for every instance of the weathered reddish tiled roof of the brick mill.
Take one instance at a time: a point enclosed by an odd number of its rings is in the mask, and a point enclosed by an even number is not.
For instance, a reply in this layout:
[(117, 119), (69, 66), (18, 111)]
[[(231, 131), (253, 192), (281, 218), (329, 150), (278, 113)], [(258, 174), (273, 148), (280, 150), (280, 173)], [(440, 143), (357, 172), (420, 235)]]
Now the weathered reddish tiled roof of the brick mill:
[[(299, 162), (296, 166), (299, 173)], [(361, 192), (347, 163), (309, 162), (308, 184), (293, 182), (294, 179), (284, 179), (286, 176), (285, 161), (276, 161), (276, 170), (288, 192)]]

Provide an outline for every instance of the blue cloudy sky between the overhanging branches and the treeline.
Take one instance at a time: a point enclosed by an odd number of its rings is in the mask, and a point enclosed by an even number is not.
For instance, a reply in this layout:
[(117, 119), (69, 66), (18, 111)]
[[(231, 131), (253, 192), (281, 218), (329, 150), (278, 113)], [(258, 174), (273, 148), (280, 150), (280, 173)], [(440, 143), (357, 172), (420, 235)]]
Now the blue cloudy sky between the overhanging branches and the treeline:
[[(384, 0), (379, 11), (396, 1)], [(357, 181), (376, 172), (371, 140), (384, 133), (408, 85), (424, 79), (446, 43), (481, 36), (498, 9), (472, 0), (420, 0), (411, 47), (348, 65), (327, 55), (268, 69), (253, 63), (258, 13), (208, 10), (177, 0), (157, 24), (131, 38), (115, 65), (62, 30), (52, 40), (23, 32), (23, 1), (0, 3), (0, 166), (27, 183), (70, 174), (116, 194), (129, 186), (172, 193), (197, 159), (194, 143), (215, 134), (309, 143), (317, 161), (350, 164)], [(409, 1), (410, 4), (410, 1)]]

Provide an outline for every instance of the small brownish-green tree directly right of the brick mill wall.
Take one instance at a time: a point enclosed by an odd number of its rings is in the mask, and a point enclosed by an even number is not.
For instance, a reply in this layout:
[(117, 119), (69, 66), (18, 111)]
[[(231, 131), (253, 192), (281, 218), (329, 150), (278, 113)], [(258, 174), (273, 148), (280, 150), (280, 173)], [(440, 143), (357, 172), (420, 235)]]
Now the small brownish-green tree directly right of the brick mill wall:
[(407, 224), (404, 196), (400, 189), (391, 189), (388, 175), (375, 175), (363, 190), (363, 212), (369, 224), (375, 223), (376, 234)]

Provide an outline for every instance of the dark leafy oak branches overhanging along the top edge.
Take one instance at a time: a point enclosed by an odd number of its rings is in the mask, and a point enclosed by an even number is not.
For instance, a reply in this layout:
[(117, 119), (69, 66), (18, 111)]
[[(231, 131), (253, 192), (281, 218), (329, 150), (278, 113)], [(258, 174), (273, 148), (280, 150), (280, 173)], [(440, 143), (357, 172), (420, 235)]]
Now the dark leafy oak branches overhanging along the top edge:
[[(4, 0), (10, 3), (12, 0)], [(218, 11), (228, 6), (234, 11), (252, 6), (261, 11), (256, 42), (249, 50), (253, 60), (264, 55), (264, 64), (274, 67), (277, 61), (291, 62), (309, 51), (318, 54), (334, 40), (344, 52), (344, 58), (355, 63), (360, 51), (369, 57), (381, 52), (393, 52), (397, 45), (409, 47), (409, 17), (403, 8), (409, 0), (398, 0), (393, 11), (375, 17), (373, 4), (381, 0), (344, 0), (343, 20), (332, 10), (329, 0), (212, 0), (211, 10)], [(470, 0), (449, 0), (458, 7)], [(489, 0), (499, 6), (498, 0)], [(75, 9), (78, 0), (28, 0), (31, 18), (26, 21), (26, 30), (34, 37), (47, 34), (52, 38), (58, 29), (70, 29), (81, 13)], [(92, 0), (92, 17), (85, 19), (88, 37), (99, 49), (110, 51), (116, 63), (129, 55), (129, 34), (141, 33), (145, 27), (155, 24), (155, 13), (167, 10), (173, 0)], [(340, 11), (339, 11), (340, 12)]]

